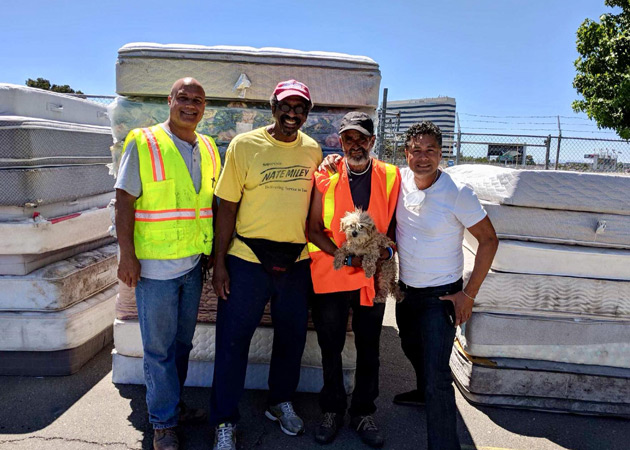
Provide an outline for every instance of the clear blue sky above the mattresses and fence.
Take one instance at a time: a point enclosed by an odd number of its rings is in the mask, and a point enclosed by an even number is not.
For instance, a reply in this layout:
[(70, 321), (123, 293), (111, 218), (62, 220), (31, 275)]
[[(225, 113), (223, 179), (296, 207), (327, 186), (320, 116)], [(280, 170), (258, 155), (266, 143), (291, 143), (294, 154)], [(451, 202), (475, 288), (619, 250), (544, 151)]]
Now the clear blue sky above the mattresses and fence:
[(561, 115), (564, 128), (583, 130), (565, 134), (614, 137), (571, 109), (575, 32), (609, 11), (603, 0), (2, 3), (0, 82), (44, 77), (111, 95), (117, 50), (137, 41), (334, 51), (378, 62), (390, 100), (455, 97), (468, 130), (553, 132), (555, 119), (501, 117)]

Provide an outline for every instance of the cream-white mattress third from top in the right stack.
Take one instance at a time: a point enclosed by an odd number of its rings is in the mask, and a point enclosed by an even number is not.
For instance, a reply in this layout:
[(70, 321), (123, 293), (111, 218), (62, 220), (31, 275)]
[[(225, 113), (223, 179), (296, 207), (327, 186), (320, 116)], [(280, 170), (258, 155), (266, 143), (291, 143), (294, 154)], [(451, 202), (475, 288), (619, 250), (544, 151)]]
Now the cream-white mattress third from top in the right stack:
[[(477, 240), (464, 232), (464, 247), (477, 251)], [(630, 280), (630, 250), (499, 240), (492, 261), (498, 272)]]

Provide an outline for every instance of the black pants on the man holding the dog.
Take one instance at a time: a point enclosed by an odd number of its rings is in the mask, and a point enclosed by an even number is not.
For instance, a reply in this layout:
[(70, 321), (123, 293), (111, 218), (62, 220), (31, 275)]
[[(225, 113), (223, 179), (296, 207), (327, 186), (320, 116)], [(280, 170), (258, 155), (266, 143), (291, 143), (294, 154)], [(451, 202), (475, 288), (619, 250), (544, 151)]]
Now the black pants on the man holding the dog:
[(316, 294), (313, 323), (322, 351), (324, 387), (319, 395), (323, 412), (345, 414), (347, 395), (343, 385), (341, 352), (346, 342), (348, 314), (352, 308), (352, 331), (357, 349), (355, 387), (351, 416), (374, 414), (378, 397), (379, 346), (385, 304), (361, 306), (359, 291)]

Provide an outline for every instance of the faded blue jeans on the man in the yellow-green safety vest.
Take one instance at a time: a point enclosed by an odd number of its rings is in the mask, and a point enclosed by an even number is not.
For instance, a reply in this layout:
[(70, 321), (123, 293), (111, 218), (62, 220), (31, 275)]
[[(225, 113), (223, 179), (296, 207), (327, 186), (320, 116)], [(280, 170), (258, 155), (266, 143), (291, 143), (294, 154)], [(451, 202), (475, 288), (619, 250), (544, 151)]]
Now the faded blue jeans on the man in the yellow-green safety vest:
[(155, 429), (177, 425), (200, 298), (201, 264), (172, 280), (140, 278), (136, 286), (147, 409)]

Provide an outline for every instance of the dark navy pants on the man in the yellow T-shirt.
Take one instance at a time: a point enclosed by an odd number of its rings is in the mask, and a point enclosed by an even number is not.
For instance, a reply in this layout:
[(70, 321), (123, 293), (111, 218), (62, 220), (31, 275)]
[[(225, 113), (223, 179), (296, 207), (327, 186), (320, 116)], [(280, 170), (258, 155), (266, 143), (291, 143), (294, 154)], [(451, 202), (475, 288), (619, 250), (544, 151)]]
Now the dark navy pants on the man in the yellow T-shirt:
[(269, 368), (270, 405), (290, 401), (300, 381), (306, 343), (307, 298), (311, 289), (310, 261), (299, 261), (281, 275), (270, 275), (261, 264), (228, 255), (230, 294), (219, 299), (216, 354), (210, 398), (210, 424), (238, 422), (249, 345), (271, 300), (273, 347)]

